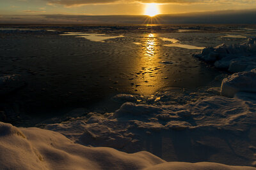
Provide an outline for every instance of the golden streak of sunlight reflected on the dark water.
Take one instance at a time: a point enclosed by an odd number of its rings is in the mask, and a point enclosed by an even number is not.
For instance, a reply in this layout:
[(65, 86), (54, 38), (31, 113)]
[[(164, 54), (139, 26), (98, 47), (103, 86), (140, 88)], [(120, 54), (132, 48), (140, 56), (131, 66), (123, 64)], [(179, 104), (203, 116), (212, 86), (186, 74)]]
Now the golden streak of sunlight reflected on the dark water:
[(163, 68), (159, 62), (159, 38), (157, 34), (145, 34), (141, 39), (141, 55), (136, 63), (136, 91), (141, 95), (154, 94), (163, 84)]

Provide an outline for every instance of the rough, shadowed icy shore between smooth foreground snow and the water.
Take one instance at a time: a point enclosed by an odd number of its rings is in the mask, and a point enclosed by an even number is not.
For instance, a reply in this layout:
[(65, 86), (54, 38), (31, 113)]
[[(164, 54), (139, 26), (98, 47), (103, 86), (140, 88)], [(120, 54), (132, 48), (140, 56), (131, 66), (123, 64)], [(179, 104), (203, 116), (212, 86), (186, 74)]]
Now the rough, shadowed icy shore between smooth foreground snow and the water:
[(147, 150), (168, 161), (256, 165), (256, 150), (250, 149), (256, 147), (255, 101), (212, 96), (169, 105), (164, 100), (124, 103), (114, 113), (89, 113), (43, 127), (81, 145)]

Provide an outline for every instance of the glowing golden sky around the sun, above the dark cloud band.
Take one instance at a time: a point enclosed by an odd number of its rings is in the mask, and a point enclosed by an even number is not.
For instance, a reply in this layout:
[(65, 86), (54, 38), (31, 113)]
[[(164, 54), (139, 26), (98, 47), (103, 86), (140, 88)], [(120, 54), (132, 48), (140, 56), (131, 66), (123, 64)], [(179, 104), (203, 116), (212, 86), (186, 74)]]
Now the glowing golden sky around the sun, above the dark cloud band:
[[(148, 3), (157, 14), (255, 10), (256, 0), (0, 0), (0, 23), (45, 20), (56, 15), (145, 15)], [(45, 17), (46, 16), (46, 17)]]

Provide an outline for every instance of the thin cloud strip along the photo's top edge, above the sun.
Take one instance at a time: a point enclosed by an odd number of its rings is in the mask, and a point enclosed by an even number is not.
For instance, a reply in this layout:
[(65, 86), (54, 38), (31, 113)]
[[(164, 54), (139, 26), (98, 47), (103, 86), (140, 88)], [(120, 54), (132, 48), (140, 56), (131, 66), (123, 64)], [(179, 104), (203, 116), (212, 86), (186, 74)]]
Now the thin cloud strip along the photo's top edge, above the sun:
[(85, 4), (113, 4), (113, 3), (160, 3), (160, 4), (254, 4), (255, 0), (44, 0), (48, 4), (63, 4), (65, 6), (81, 6)]

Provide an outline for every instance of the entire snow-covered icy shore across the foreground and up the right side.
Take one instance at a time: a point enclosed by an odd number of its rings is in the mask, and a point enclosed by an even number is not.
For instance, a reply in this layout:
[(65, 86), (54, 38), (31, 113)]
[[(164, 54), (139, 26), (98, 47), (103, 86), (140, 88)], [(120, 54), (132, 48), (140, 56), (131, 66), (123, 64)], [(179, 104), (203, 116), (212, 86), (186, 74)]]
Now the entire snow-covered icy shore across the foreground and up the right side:
[[(0, 167), (256, 169), (255, 53), (255, 38), (202, 50), (196, 57), (237, 72), (203, 92), (118, 94), (113, 100), (122, 106), (113, 113), (80, 109), (79, 116), (40, 129), (0, 122)], [(0, 78), (3, 93), (23, 85), (15, 75)]]

